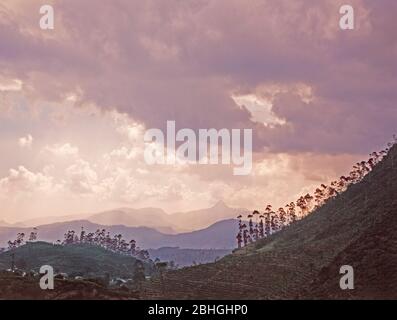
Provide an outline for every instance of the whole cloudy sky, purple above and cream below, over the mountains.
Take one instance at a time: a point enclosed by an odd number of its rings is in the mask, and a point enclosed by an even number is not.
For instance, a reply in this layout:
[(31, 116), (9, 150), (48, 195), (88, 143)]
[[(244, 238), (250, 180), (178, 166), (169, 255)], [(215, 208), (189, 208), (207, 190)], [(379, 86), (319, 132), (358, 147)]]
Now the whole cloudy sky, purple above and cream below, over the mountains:
[[(0, 1), (0, 220), (284, 205), (397, 123), (397, 2)], [(354, 8), (341, 30), (339, 8)], [(148, 165), (144, 133), (253, 130), (253, 168)]]

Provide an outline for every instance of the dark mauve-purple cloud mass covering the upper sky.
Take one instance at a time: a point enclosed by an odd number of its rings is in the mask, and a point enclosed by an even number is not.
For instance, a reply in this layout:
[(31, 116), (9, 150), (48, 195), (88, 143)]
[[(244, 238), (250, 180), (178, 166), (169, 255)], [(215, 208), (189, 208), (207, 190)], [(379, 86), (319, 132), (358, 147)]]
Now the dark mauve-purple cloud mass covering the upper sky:
[[(350, 130), (321, 143), (297, 143), (295, 149), (310, 151), (321, 145), (344, 152), (345, 145), (340, 145), (344, 141), (361, 152), (387, 139), (394, 129), (396, 71), (388, 67), (395, 61), (397, 47), (393, 2), (385, 9), (379, 2), (352, 1), (356, 30), (349, 33), (338, 27), (343, 1), (299, 0), (292, 5), (285, 0), (183, 4), (57, 0), (53, 4), (60, 19), (51, 39), (33, 32), (37, 27), (33, 19), (22, 21), (34, 4), (8, 10), (2, 19), (0, 38), (7, 48), (1, 53), (2, 65), (10, 76), (23, 81), (31, 97), (59, 101), (79, 92), (77, 104), (117, 108), (146, 127), (164, 127), (166, 120), (176, 120), (193, 129), (253, 128), (254, 147), (260, 150), (273, 148), (280, 135), (295, 141), (304, 130), (295, 125), (299, 115), (294, 118), (297, 112), (290, 113), (294, 130), (270, 130), (256, 123), (255, 117), (273, 114), (272, 110), (260, 110), (260, 104), (255, 111), (252, 106), (242, 108), (232, 96), (255, 94), (269, 83), (282, 87), (304, 83), (317, 98), (311, 111), (329, 115), (327, 108), (332, 105), (334, 114), (359, 118)], [(95, 16), (90, 14), (92, 7)], [(358, 112), (363, 104), (366, 112)], [(382, 113), (375, 123), (373, 108)], [(307, 118), (314, 120), (318, 119)], [(339, 120), (333, 115), (327, 119), (333, 126)], [(315, 123), (308, 125), (315, 134), (321, 129)], [(379, 132), (376, 137), (362, 129), (369, 126)]]

